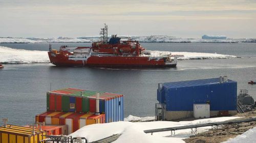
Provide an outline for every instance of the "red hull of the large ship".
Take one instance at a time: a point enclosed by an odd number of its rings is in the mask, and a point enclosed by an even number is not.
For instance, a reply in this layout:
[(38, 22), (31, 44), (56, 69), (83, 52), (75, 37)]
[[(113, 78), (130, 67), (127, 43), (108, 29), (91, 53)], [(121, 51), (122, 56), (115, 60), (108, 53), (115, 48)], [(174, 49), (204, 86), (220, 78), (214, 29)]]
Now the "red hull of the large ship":
[(56, 66), (91, 66), (91, 67), (176, 67), (176, 64), (165, 64), (164, 60), (149, 60), (145, 56), (90, 56), (86, 61), (69, 60), (63, 54), (48, 52), (52, 64)]

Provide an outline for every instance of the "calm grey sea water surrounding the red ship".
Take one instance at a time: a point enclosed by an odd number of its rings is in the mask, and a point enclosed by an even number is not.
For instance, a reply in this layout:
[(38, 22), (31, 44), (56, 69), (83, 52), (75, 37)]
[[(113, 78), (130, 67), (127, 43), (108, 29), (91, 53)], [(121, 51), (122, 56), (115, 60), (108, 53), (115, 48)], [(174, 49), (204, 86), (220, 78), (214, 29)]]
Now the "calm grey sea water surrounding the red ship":
[[(90, 46), (91, 43), (53, 43)], [(215, 78), (227, 75), (238, 82), (240, 89), (249, 90), (256, 100), (256, 43), (141, 43), (147, 50), (201, 52), (236, 55), (241, 58), (182, 60), (177, 68), (106, 69), (89, 67), (56, 67), (51, 63), (5, 64), (0, 70), (0, 118), (9, 118), (9, 124), (34, 123), (35, 115), (46, 111), (46, 92), (61, 88), (79, 88), (106, 91), (124, 95), (124, 117), (154, 116), (157, 88), (160, 82)], [(49, 44), (0, 44), (10, 47), (11, 57), (40, 61), (38, 52), (47, 56)], [(0, 48), (1, 49), (1, 48)], [(25, 50), (24, 50), (25, 49)], [(27, 52), (27, 50), (33, 50)], [(197, 53), (193, 53), (197, 54)], [(0, 61), (3, 59), (0, 59)], [(51, 84), (51, 86), (50, 86)], [(220, 99), (221, 100), (221, 99)]]

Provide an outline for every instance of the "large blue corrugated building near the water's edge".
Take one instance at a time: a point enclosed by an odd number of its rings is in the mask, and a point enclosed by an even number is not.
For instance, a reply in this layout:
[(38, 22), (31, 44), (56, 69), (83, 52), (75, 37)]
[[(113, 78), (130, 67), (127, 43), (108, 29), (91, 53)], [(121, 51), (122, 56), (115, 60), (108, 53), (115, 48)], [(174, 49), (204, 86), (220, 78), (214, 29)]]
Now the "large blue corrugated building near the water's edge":
[(237, 113), (237, 82), (220, 78), (159, 83), (157, 100), (164, 107), (163, 118), (193, 117), (194, 104), (210, 104), (210, 116)]

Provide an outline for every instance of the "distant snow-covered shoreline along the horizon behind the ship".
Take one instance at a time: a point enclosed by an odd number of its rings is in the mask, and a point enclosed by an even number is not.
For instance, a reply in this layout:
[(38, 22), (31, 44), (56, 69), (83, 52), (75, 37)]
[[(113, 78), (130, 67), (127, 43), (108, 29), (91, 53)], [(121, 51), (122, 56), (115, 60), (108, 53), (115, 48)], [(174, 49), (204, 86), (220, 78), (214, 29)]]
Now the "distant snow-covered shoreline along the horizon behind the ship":
[[(110, 38), (110, 37), (109, 37)], [(173, 43), (238, 43), (238, 42), (256, 42), (256, 39), (189, 39), (177, 38), (174, 36), (152, 35), (152, 36), (120, 36), (122, 40), (137, 40), (140, 42), (173, 42)], [(95, 42), (99, 41), (99, 36), (87, 37), (58, 37), (58, 38), (13, 38), (0, 37), (0, 43), (49, 43), (49, 42)]]

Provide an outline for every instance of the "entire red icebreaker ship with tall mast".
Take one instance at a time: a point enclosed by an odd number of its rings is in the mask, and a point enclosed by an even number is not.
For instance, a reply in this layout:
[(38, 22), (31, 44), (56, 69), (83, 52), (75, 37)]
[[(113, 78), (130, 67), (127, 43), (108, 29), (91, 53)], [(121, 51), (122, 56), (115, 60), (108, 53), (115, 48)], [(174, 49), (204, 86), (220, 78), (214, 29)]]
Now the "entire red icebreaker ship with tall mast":
[(61, 46), (55, 50), (50, 45), (48, 55), (51, 63), (72, 67), (176, 67), (177, 57), (183, 56), (145, 50), (139, 41), (122, 41), (116, 35), (108, 41), (108, 25), (101, 29), (100, 34), (100, 42), (93, 42), (91, 47)]

